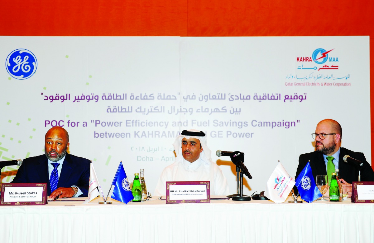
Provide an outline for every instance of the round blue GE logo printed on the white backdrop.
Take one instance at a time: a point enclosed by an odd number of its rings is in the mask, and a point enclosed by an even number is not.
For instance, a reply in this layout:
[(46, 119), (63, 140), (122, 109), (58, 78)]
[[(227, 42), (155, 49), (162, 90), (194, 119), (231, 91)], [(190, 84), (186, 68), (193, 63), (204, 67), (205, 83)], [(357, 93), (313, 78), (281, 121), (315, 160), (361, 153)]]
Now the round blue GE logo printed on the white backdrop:
[(6, 58), (5, 66), (10, 76), (24, 80), (35, 74), (38, 63), (33, 52), (27, 49), (16, 49)]

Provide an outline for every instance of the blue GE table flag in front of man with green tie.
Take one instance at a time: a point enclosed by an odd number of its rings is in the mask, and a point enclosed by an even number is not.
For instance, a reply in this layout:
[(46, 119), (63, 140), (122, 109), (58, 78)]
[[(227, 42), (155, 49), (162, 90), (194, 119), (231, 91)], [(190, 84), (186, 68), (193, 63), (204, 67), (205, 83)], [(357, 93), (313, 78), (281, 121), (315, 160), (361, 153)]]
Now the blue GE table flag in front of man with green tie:
[(322, 196), (313, 178), (312, 168), (309, 161), (295, 180), (300, 197), (306, 202), (313, 202)]

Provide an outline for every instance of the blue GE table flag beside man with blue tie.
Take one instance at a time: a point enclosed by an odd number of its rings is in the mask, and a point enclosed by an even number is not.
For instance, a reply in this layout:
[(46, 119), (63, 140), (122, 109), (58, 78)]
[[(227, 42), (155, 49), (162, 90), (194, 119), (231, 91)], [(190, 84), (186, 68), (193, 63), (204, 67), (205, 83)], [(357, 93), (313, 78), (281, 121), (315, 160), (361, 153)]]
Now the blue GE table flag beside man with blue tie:
[(123, 169), (122, 161), (119, 163), (117, 173), (114, 176), (112, 185), (115, 186), (111, 198), (118, 201), (128, 203), (134, 196), (130, 189), (130, 183), (127, 179), (125, 169)]

